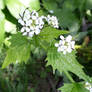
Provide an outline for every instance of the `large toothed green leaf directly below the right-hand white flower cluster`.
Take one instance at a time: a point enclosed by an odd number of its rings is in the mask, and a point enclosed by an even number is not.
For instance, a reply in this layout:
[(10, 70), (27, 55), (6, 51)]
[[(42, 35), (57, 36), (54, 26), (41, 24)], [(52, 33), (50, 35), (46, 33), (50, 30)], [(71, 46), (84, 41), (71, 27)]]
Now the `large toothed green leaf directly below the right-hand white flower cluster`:
[(67, 53), (64, 55), (63, 53), (57, 52), (55, 47), (52, 47), (48, 50), (47, 53), (47, 65), (51, 65), (53, 70), (58, 69), (59, 72), (72, 72), (79, 76), (79, 78), (88, 81), (88, 76), (82, 70), (83, 66), (81, 66), (76, 60), (76, 51), (72, 51), (72, 53)]

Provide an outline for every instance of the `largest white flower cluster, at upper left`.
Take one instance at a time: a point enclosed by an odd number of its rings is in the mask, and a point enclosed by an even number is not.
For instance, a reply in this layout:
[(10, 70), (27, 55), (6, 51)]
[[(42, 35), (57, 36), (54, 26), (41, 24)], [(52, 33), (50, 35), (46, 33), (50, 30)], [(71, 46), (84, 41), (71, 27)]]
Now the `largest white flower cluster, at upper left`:
[(20, 19), (18, 22), (23, 26), (21, 32), (23, 35), (28, 35), (33, 37), (34, 34), (39, 34), (40, 30), (43, 28), (44, 21), (39, 17), (36, 11), (30, 12), (26, 9), (22, 14), (20, 14)]

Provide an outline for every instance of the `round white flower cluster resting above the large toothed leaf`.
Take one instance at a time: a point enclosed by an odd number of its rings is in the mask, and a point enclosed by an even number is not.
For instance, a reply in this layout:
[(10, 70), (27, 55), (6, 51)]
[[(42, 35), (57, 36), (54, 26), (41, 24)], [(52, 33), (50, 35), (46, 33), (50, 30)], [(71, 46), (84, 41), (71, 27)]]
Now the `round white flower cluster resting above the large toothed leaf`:
[(55, 43), (55, 47), (58, 47), (58, 52), (63, 52), (63, 54), (71, 53), (73, 49), (75, 49), (75, 41), (72, 40), (72, 36), (69, 35), (64, 38), (62, 35), (60, 36), (59, 43)]

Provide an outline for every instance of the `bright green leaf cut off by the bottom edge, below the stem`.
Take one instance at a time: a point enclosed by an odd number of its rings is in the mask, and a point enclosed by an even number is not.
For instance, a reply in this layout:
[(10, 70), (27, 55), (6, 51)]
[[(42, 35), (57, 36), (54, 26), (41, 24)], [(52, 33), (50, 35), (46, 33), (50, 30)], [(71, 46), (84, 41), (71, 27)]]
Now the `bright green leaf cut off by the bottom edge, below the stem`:
[(62, 92), (89, 92), (82, 83), (66, 83), (59, 90)]

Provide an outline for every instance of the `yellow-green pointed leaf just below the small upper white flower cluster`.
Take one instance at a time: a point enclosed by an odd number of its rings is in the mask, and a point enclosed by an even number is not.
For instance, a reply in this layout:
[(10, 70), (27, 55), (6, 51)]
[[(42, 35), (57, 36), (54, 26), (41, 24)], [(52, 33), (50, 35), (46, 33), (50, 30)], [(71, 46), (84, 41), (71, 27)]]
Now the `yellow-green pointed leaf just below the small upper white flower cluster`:
[(67, 34), (68, 31), (58, 30), (52, 27), (45, 27), (42, 32), (39, 34), (39, 37), (47, 42), (50, 42), (54, 38), (57, 38), (61, 34)]

